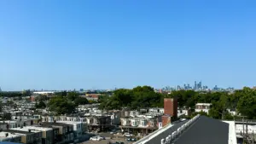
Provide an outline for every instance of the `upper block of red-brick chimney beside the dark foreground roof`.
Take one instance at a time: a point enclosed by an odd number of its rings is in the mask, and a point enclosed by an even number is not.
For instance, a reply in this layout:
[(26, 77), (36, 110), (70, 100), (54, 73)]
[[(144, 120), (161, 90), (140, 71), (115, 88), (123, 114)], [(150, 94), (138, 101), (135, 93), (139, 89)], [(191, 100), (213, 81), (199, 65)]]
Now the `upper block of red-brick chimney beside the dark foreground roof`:
[(165, 114), (168, 114), (174, 118), (177, 118), (177, 99), (165, 98), (164, 109), (165, 109)]

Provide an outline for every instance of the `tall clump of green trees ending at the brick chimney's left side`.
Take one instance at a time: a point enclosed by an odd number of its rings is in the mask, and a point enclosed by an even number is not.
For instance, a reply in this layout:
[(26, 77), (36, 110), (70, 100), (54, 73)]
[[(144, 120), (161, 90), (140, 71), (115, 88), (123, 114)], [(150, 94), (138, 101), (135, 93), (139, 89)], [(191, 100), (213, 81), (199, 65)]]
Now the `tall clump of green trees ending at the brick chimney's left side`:
[(138, 86), (134, 89), (117, 89), (112, 96), (102, 96), (99, 99), (102, 109), (121, 109), (129, 107), (163, 107), (164, 95), (155, 93), (149, 86)]

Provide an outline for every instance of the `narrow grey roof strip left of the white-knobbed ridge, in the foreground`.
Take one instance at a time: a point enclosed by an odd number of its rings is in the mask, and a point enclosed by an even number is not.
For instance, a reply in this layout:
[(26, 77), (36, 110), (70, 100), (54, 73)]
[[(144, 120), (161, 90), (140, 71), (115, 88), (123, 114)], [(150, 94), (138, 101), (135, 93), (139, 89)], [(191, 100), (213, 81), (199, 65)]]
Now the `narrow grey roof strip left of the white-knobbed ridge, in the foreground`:
[(162, 132), (160, 135), (155, 136), (153, 139), (146, 142), (145, 144), (159, 144), (161, 139), (165, 139), (168, 135), (172, 135), (172, 132), (177, 130), (177, 128), (179, 128), (180, 126), (182, 126), (186, 122), (187, 122), (187, 120), (183, 121), (183, 122), (179, 122), (179, 123), (174, 123), (174, 125), (171, 128)]

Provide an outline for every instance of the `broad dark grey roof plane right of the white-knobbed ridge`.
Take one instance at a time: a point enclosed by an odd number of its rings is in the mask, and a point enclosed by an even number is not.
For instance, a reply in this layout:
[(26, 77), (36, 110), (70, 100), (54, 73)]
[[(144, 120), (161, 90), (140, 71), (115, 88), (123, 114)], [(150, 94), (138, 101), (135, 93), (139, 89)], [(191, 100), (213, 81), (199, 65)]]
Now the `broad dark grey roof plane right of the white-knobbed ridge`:
[(174, 144), (228, 144), (228, 142), (229, 124), (201, 116), (174, 141)]

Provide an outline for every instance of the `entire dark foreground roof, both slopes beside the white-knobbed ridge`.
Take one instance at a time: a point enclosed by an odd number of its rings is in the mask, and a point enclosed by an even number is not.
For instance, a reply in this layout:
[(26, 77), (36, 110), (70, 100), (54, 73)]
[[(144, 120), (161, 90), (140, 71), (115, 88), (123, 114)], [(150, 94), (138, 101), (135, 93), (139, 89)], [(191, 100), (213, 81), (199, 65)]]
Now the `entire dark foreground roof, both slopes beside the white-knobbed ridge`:
[[(166, 139), (168, 135), (176, 131), (187, 121), (176, 122), (172, 127), (155, 135), (145, 144), (160, 143), (162, 139)], [(229, 143), (229, 124), (218, 119), (201, 116), (187, 130), (178, 135), (172, 141), (173, 144), (228, 144)]]

